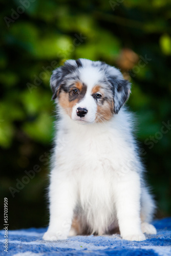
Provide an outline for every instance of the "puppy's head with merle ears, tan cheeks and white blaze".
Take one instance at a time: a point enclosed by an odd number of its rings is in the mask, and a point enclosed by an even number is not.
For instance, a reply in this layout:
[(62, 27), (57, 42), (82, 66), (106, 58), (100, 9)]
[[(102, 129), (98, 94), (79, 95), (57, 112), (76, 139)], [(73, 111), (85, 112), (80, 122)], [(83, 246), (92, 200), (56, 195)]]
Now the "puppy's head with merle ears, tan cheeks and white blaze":
[(120, 71), (101, 61), (67, 60), (51, 76), (52, 99), (72, 120), (108, 121), (129, 98), (130, 83)]

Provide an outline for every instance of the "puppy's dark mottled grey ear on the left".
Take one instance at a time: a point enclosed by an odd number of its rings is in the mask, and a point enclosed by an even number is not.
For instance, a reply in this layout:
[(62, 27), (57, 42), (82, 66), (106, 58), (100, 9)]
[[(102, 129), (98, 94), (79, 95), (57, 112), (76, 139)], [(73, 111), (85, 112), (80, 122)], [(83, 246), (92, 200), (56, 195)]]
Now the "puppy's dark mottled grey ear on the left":
[(57, 68), (53, 71), (51, 80), (50, 80), (50, 86), (52, 89), (52, 99), (56, 99), (60, 92), (60, 85), (62, 82), (63, 76), (62, 76), (62, 70), (61, 68)]

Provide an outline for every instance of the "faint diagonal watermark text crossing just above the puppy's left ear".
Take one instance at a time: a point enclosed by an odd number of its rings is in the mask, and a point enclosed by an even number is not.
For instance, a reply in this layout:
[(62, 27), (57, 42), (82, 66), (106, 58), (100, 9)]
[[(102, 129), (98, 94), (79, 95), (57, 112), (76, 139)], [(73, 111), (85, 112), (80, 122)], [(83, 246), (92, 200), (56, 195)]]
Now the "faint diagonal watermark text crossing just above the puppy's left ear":
[[(82, 42), (87, 38), (85, 36), (82, 36), (80, 33), (74, 35), (75, 38), (73, 39), (73, 43), (68, 46), (66, 49), (68, 53), (71, 53), (75, 50), (76, 47), (80, 46)], [(66, 52), (65, 50), (65, 52)], [(58, 58), (66, 59), (67, 55), (64, 54), (62, 51), (59, 51), (57, 53)], [(39, 75), (34, 75), (34, 80), (33, 83), (27, 83), (27, 88), (29, 89), (29, 92), (32, 93), (33, 89), (36, 89), (40, 84), (42, 83), (43, 80), (47, 79), (48, 76), (52, 73), (52, 71), (56, 68), (58, 62), (56, 60), (51, 61), (50, 66), (44, 67), (42, 66), (42, 72), (39, 73)]]

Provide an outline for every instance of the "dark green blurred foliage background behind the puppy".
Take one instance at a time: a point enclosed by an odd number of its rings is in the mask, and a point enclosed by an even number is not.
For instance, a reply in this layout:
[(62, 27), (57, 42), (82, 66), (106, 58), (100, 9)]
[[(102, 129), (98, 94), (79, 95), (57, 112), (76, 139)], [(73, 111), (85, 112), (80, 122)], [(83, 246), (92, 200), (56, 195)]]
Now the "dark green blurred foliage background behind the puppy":
[(171, 132), (163, 128), (171, 123), (169, 2), (0, 1), (0, 192), (2, 211), (8, 198), (10, 229), (48, 224), (55, 120), (49, 79), (66, 59), (80, 57), (116, 66), (131, 81), (127, 105), (137, 116), (156, 218), (171, 214)]

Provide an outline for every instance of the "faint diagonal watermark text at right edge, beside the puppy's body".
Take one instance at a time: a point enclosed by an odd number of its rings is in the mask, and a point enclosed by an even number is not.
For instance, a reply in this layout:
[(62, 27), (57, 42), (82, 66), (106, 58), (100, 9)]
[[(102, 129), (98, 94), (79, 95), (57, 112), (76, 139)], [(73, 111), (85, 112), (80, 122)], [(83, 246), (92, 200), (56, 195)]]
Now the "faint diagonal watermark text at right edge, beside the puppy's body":
[[(148, 146), (149, 150), (151, 150), (155, 144), (159, 142), (164, 136), (164, 134), (167, 134), (171, 130), (171, 123), (170, 120), (167, 120), (167, 122), (162, 122), (162, 126), (160, 131), (156, 132), (155, 135), (149, 136), (147, 139), (144, 140), (144, 144)], [(145, 156), (147, 152), (144, 150), (144, 148), (141, 148), (141, 155)]]

